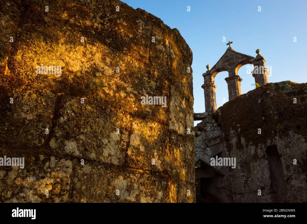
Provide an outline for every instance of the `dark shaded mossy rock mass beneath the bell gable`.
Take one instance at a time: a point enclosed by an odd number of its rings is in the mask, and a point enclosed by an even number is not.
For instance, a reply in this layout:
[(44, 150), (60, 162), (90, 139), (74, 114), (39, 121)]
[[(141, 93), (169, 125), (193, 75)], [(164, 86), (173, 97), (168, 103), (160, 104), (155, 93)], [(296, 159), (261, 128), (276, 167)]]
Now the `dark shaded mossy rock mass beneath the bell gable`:
[[(214, 170), (201, 178), (202, 194), (212, 202), (307, 202), (306, 111), (307, 84), (285, 81), (208, 114), (195, 127), (195, 160), (202, 174)], [(236, 167), (211, 166), (216, 155), (236, 158)]]

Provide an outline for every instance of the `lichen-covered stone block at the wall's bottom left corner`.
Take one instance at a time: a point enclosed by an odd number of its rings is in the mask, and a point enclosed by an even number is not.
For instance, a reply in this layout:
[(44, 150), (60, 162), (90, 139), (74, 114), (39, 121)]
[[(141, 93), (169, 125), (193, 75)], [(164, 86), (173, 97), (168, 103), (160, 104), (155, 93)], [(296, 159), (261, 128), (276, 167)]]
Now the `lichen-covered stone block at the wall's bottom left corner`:
[(1, 166), (2, 202), (67, 202), (71, 194), (72, 161), (40, 154), (27, 156), (25, 167)]

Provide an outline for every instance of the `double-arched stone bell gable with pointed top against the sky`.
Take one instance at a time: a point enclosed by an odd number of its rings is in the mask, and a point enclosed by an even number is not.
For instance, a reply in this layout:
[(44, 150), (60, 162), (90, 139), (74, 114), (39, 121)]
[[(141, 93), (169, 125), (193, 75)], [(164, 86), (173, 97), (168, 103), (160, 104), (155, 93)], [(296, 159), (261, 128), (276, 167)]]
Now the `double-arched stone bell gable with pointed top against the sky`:
[[(256, 58), (239, 53), (228, 47), (226, 52), (222, 57), (216, 62), (216, 64), (210, 69), (210, 65), (207, 65), (207, 72), (203, 74), (204, 84), (201, 86), (204, 89), (205, 96), (205, 110), (208, 113), (216, 111), (216, 97), (214, 84), (214, 77), (222, 71), (228, 72), (228, 77), (225, 78), (228, 86), (228, 98), (229, 100), (234, 99), (238, 95), (241, 95), (241, 81), (242, 79), (238, 75), (238, 70), (246, 64), (254, 64), (256, 66), (257, 73), (253, 71), (253, 77), (255, 78), (255, 83), (259, 85), (264, 85), (268, 83), (267, 75), (269, 71), (261, 69), (265, 67), (265, 59), (260, 55), (260, 50), (256, 50)], [(260, 69), (258, 69), (258, 67)]]

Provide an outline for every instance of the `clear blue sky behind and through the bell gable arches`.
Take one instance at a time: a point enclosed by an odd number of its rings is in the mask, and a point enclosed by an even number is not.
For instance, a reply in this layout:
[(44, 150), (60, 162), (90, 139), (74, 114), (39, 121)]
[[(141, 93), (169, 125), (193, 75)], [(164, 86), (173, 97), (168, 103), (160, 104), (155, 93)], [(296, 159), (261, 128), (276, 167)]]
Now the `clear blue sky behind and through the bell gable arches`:
[[(261, 55), (270, 66), (270, 82), (290, 80), (307, 82), (307, 1), (218, 1), (218, 0), (122, 0), (129, 6), (141, 8), (159, 17), (170, 28), (177, 28), (193, 52), (194, 112), (204, 112), (204, 83), (202, 74), (231, 47), (243, 54)], [(187, 6), (191, 11), (187, 12)], [(261, 6), (261, 12), (259, 12)], [(226, 37), (226, 43), (223, 43)], [(296, 42), (294, 42), (296, 37)], [(247, 66), (239, 69), (242, 94), (254, 89), (254, 77)], [(217, 107), (228, 101), (228, 72), (215, 77)], [(224, 100), (225, 100), (224, 99)], [(225, 101), (224, 101), (225, 102)], [(195, 121), (196, 125), (200, 121)]]

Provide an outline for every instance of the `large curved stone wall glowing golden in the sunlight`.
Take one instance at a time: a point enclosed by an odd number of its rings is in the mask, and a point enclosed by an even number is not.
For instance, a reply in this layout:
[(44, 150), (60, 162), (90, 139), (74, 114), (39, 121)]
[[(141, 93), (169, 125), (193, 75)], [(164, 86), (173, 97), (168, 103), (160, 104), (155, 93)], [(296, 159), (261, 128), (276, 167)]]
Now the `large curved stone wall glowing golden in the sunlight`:
[(176, 28), (115, 0), (0, 9), (0, 157), (25, 158), (0, 166), (1, 202), (195, 201), (192, 52)]

